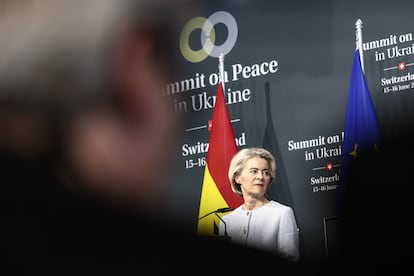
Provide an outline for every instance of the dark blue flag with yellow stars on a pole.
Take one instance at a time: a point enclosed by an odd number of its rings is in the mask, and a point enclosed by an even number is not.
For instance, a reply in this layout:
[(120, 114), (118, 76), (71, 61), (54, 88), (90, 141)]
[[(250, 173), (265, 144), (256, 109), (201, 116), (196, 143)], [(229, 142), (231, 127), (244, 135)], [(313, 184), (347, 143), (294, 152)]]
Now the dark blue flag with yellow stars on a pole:
[[(374, 153), (381, 146), (380, 126), (362, 70), (359, 49), (354, 54), (348, 93), (338, 186), (340, 208), (352, 161), (362, 155)], [(342, 212), (341, 209), (339, 211)]]

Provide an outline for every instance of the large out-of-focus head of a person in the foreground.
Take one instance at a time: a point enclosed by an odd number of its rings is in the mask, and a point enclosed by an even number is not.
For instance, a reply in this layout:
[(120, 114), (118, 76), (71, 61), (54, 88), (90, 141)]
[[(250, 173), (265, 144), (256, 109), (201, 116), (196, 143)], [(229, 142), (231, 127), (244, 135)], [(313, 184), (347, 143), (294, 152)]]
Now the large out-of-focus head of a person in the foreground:
[(74, 191), (158, 205), (177, 123), (162, 94), (167, 10), (162, 1), (0, 1), (0, 151), (52, 156)]

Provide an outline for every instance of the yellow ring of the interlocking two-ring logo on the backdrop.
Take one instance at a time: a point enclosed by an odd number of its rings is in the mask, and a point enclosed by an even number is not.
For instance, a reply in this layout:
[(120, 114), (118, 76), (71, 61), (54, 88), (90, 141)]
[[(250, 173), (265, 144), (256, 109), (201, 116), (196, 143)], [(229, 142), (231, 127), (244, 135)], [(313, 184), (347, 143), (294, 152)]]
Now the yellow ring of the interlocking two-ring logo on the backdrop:
[[(206, 18), (201, 17), (201, 16), (194, 17), (193, 19), (188, 21), (187, 24), (185, 24), (183, 30), (181, 31), (180, 50), (183, 56), (185, 57), (185, 59), (187, 59), (190, 62), (193, 62), (193, 63), (200, 62), (206, 59), (208, 55), (210, 54), (210, 53), (207, 53), (203, 47), (201, 47), (200, 50), (194, 51), (193, 49), (191, 49), (190, 44), (189, 44), (191, 33), (196, 29), (203, 30), (203, 26), (206, 23), (209, 23)], [(214, 31), (214, 28), (211, 28), (210, 30), (211, 30), (210, 34), (206, 34), (206, 37), (207, 37), (207, 40), (210, 41), (210, 43), (214, 44), (216, 40), (216, 33)]]

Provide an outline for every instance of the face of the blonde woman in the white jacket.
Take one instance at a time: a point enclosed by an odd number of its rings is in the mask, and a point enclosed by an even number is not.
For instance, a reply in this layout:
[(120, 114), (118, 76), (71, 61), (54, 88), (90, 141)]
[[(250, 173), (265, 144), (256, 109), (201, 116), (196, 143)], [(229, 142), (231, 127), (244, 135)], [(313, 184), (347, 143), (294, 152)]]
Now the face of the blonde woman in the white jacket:
[(253, 157), (247, 160), (240, 175), (235, 177), (240, 184), (243, 196), (263, 198), (270, 185), (270, 170), (266, 159)]

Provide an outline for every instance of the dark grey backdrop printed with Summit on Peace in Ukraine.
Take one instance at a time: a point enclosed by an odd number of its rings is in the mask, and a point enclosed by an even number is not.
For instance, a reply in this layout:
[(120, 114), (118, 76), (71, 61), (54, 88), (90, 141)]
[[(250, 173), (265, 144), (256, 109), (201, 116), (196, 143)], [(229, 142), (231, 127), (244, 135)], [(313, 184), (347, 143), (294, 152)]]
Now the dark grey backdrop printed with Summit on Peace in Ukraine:
[(223, 53), (236, 143), (275, 154), (270, 196), (293, 207), (302, 259), (324, 262), (324, 219), (337, 215), (355, 22), (363, 22), (363, 63), (380, 125), (392, 137), (414, 120), (412, 8), (408, 0), (185, 1), (178, 75), (165, 89), (185, 118), (166, 199), (171, 218), (196, 232)]

